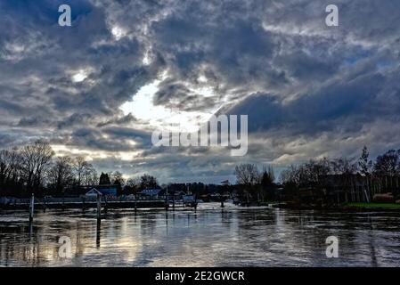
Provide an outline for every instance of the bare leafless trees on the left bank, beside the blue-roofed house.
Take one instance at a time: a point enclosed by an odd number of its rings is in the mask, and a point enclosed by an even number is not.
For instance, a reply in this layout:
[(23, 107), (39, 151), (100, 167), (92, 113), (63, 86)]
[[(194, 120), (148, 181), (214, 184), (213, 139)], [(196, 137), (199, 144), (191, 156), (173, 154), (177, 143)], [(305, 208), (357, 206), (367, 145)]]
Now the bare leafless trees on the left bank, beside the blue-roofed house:
[(85, 158), (54, 155), (50, 144), (42, 140), (0, 151), (0, 195), (57, 193), (98, 183), (96, 169)]

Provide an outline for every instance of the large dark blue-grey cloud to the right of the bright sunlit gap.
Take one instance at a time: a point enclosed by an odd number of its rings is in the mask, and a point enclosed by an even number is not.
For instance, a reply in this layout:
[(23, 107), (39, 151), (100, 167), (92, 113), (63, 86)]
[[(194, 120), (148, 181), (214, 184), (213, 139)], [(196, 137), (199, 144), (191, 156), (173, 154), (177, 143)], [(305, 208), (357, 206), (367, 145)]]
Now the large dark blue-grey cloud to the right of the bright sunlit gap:
[(290, 134), (315, 134), (339, 127), (352, 132), (375, 118), (400, 113), (400, 97), (381, 101), (380, 94), (389, 81), (380, 73), (344, 79), (290, 102), (271, 94), (253, 94), (227, 113), (249, 114), (250, 131), (287, 127)]

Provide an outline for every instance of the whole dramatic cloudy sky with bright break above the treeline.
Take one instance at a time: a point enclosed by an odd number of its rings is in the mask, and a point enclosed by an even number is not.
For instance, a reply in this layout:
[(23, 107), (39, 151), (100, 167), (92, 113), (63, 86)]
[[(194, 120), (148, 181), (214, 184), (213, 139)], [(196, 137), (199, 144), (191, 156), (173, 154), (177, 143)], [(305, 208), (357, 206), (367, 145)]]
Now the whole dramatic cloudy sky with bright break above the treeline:
[[(1, 0), (0, 14), (0, 148), (45, 138), (163, 183), (400, 148), (399, 1)], [(151, 145), (215, 113), (249, 115), (246, 156)]]

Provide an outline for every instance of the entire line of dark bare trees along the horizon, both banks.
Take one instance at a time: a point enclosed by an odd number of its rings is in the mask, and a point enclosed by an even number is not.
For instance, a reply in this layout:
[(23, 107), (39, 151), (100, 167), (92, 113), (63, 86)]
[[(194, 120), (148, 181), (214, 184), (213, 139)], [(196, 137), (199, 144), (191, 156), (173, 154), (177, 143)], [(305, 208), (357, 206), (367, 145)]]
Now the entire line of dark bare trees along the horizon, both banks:
[[(253, 198), (273, 199), (278, 186), (296, 190), (299, 187), (317, 186), (322, 175), (363, 175), (368, 177), (400, 176), (400, 150), (389, 150), (370, 159), (366, 146), (358, 159), (310, 159), (283, 170), (278, 181), (273, 167), (241, 164), (235, 167), (236, 185), (222, 183), (218, 191), (249, 192)], [(20, 148), (0, 151), (0, 195), (29, 196), (57, 194), (69, 189), (97, 184), (116, 184), (127, 193), (148, 188), (160, 188), (157, 178), (151, 175), (127, 179), (118, 172), (98, 175), (94, 166), (83, 157), (56, 157), (48, 142), (38, 140)], [(173, 184), (172, 189), (182, 189), (184, 184)], [(193, 192), (205, 192), (204, 184), (191, 184)]]

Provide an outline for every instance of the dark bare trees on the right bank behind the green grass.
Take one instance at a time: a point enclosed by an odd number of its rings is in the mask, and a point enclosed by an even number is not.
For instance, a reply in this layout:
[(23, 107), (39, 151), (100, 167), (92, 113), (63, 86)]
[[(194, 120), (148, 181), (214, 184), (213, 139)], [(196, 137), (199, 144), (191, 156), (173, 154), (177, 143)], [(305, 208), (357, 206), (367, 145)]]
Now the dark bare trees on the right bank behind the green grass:
[(278, 186), (292, 193), (302, 187), (318, 188), (322, 185), (322, 177), (326, 175), (339, 175), (343, 178), (362, 175), (369, 179), (399, 177), (400, 150), (389, 150), (372, 160), (368, 148), (364, 146), (359, 158), (310, 159), (282, 170), (278, 181), (275, 181), (272, 167), (264, 167), (260, 171), (255, 164), (235, 167), (234, 175), (242, 192), (249, 192), (253, 199), (259, 199), (260, 196), (274, 199), (274, 190)]

